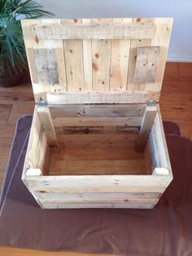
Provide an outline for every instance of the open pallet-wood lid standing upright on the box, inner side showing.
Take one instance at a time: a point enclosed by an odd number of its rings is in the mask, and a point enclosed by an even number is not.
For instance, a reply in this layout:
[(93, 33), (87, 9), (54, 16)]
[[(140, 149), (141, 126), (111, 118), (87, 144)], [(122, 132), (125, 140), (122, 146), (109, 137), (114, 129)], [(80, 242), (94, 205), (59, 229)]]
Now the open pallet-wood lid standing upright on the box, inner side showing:
[(35, 102), (159, 101), (172, 18), (22, 20)]

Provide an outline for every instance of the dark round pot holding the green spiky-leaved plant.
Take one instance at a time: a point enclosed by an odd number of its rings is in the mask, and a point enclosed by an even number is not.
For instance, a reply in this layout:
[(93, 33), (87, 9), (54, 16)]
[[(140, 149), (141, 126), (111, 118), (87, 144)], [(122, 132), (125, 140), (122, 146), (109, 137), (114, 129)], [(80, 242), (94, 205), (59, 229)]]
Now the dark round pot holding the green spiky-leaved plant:
[(11, 73), (8, 68), (4, 68), (2, 72), (0, 72), (0, 86), (1, 87), (10, 87), (15, 86), (17, 82), (20, 81), (20, 78), (23, 75), (23, 71), (21, 68), (12, 68)]

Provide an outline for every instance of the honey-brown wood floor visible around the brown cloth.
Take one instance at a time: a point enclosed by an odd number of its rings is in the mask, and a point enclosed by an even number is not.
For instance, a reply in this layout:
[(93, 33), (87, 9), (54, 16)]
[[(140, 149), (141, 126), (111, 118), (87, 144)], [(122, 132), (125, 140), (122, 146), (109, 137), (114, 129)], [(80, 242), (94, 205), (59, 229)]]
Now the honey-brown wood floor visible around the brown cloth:
[[(163, 120), (177, 122), (182, 134), (192, 139), (192, 64), (167, 63), (160, 97)], [(4, 178), (7, 157), (10, 152), (16, 119), (33, 113), (33, 91), (30, 82), (23, 80), (11, 88), (0, 88), (0, 179)], [(19, 255), (83, 255), (74, 253), (47, 253), (28, 249), (1, 247), (1, 256)], [(91, 254), (88, 254), (91, 255)], [(93, 255), (93, 254), (92, 254)], [(102, 254), (100, 254), (102, 255)]]

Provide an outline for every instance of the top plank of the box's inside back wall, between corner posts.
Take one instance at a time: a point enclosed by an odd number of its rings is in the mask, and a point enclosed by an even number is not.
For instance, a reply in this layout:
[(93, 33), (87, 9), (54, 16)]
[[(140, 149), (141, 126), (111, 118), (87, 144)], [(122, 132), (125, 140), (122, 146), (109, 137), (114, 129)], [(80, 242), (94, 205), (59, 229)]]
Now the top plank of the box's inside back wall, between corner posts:
[(51, 106), (51, 117), (142, 117), (146, 104), (70, 104)]

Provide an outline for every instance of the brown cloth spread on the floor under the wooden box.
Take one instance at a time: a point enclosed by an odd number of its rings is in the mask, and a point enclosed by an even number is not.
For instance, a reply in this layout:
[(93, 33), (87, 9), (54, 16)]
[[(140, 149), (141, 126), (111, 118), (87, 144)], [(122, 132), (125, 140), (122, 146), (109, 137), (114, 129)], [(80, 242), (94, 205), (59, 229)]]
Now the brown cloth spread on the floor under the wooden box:
[[(192, 255), (192, 142), (164, 122), (174, 179), (152, 210), (41, 210), (20, 177), (32, 117), (18, 121), (2, 191), (0, 245), (116, 255)], [(171, 135), (174, 134), (174, 135)]]

